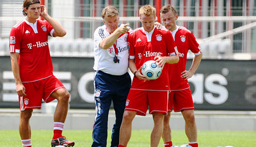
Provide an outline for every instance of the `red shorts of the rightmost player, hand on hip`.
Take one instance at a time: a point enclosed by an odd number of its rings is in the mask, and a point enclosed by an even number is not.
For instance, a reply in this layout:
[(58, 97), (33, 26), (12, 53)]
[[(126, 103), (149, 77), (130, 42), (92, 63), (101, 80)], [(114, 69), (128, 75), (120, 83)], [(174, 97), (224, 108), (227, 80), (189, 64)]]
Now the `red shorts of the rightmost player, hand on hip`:
[(169, 94), (168, 111), (194, 110), (194, 103), (190, 88), (182, 91), (171, 91)]

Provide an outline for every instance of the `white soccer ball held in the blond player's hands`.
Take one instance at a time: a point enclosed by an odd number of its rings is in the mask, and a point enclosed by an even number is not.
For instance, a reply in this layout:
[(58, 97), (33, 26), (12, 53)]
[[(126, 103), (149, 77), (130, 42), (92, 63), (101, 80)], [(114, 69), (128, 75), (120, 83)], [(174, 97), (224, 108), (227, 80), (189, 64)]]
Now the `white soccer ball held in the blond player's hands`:
[(148, 60), (142, 65), (141, 72), (147, 79), (155, 80), (160, 77), (162, 68), (154, 60)]

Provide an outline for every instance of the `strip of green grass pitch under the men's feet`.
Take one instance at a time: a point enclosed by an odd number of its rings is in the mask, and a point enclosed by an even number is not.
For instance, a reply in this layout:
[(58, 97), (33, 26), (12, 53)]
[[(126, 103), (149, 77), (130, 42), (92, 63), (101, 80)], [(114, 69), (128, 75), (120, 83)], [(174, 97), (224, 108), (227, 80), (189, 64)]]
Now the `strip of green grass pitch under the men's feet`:
[[(32, 147), (51, 147), (52, 130), (32, 130)], [(128, 147), (150, 147), (151, 130), (132, 130)], [(68, 140), (75, 141), (74, 147), (91, 147), (92, 130), (64, 130)], [(110, 147), (111, 131), (108, 136)], [(183, 130), (172, 131), (175, 146), (188, 144)], [(22, 147), (18, 130), (0, 130), (0, 147)], [(199, 147), (256, 147), (256, 131), (198, 131)], [(163, 147), (160, 140), (158, 147)]]

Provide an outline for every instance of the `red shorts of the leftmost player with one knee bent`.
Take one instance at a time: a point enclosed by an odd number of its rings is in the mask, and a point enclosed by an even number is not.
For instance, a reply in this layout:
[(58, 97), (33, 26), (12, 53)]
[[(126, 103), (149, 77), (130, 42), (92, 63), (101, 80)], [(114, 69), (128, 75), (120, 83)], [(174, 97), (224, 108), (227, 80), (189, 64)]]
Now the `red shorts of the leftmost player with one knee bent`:
[(50, 95), (58, 89), (65, 88), (64, 85), (55, 76), (50, 76), (35, 82), (22, 83), (25, 87), (24, 97), (19, 97), (20, 111), (25, 109), (41, 108), (42, 99), (50, 102), (55, 98)]

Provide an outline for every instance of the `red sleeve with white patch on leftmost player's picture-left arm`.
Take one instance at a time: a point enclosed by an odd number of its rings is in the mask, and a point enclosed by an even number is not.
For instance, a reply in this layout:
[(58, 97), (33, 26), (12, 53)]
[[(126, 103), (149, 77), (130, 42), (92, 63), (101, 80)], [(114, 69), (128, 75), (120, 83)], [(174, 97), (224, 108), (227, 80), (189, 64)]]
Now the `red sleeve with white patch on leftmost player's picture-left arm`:
[(21, 35), (18, 33), (16, 28), (11, 28), (9, 36), (9, 52), (19, 52), (20, 51), (20, 39)]

